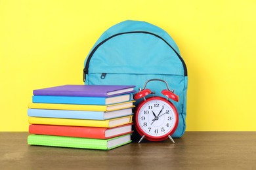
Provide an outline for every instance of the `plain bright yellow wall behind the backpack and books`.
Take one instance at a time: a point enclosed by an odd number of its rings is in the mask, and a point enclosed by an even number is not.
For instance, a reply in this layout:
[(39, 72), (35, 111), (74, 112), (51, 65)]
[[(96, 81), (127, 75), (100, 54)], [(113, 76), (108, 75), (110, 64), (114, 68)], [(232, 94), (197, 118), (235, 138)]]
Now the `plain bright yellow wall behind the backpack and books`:
[(0, 1), (0, 131), (28, 131), (34, 89), (83, 84), (98, 37), (123, 20), (165, 29), (188, 67), (187, 131), (256, 130), (256, 1)]

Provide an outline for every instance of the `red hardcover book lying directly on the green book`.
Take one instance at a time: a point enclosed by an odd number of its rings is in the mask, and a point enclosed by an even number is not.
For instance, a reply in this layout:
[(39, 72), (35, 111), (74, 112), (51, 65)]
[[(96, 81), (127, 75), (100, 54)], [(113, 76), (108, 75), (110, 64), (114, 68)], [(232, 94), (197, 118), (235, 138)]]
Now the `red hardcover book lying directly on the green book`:
[(81, 126), (55, 126), (32, 124), (29, 132), (38, 135), (55, 135), (66, 137), (85, 137), (93, 139), (109, 139), (128, 133), (133, 133), (132, 124), (125, 124), (112, 128), (105, 127), (81, 127)]

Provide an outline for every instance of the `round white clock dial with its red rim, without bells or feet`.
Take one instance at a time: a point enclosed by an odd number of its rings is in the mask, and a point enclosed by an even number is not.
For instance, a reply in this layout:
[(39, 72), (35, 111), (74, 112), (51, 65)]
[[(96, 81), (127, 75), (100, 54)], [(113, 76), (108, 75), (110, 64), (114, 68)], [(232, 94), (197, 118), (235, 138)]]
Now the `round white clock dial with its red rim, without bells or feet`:
[(167, 136), (177, 127), (177, 111), (166, 99), (153, 97), (144, 102), (138, 111), (137, 126), (150, 137)]

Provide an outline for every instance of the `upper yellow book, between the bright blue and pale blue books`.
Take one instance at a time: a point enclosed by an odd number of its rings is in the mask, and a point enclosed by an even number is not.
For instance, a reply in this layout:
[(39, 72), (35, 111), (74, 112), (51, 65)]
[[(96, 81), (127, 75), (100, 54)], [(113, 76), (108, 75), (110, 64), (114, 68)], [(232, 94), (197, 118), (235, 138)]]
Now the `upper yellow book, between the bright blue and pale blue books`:
[(87, 110), (87, 111), (112, 111), (135, 107), (135, 101), (127, 101), (114, 105), (68, 105), (68, 104), (52, 104), (52, 103), (29, 103), (30, 109), (53, 109), (53, 110)]

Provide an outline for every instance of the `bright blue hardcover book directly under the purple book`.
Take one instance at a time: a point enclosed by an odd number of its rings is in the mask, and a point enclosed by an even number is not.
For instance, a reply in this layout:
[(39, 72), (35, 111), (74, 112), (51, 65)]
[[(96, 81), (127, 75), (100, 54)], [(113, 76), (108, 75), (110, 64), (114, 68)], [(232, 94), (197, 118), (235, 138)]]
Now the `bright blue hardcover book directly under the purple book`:
[(33, 95), (33, 103), (58, 103), (77, 105), (111, 105), (131, 101), (132, 93), (117, 95), (114, 97), (80, 97), (80, 96), (57, 96), (57, 95)]

